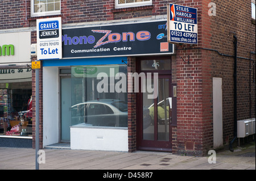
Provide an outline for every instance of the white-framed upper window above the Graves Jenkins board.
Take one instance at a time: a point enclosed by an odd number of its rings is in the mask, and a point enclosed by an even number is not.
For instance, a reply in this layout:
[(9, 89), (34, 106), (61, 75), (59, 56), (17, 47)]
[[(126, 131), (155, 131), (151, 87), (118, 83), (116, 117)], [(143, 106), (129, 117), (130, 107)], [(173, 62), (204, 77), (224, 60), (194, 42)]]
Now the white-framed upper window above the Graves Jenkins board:
[(60, 0), (31, 0), (31, 16), (60, 14)]

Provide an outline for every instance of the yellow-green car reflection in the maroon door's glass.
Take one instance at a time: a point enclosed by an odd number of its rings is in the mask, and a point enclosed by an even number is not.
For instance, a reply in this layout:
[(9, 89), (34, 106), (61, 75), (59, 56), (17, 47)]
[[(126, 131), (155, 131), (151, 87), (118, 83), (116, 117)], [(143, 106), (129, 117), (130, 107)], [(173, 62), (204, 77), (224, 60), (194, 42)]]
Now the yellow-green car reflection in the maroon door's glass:
[[(166, 106), (166, 108), (164, 108)], [(150, 117), (154, 120), (154, 104), (148, 107), (150, 110)], [(164, 124), (165, 120), (169, 120), (169, 100), (168, 98), (164, 102), (164, 100), (158, 103), (158, 123)], [(167, 122), (168, 123), (168, 122)]]

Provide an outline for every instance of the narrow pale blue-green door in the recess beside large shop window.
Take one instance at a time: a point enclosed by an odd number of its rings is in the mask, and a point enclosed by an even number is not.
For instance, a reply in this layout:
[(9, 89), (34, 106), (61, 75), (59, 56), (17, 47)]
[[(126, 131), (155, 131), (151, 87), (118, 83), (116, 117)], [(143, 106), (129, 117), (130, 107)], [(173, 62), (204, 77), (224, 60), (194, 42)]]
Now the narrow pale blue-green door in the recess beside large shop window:
[(60, 141), (70, 141), (71, 127), (71, 77), (60, 77), (61, 83), (61, 115), (60, 115)]

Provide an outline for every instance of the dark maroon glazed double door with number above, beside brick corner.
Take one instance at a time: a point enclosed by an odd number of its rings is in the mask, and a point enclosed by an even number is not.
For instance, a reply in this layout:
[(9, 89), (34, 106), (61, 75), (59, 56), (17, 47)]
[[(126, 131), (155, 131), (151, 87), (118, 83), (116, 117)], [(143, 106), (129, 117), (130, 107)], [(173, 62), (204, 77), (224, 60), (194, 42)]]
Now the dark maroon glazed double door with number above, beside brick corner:
[[(147, 69), (146, 66), (151, 66)], [(154, 67), (156, 66), (156, 67)], [(154, 69), (152, 69), (152, 67)], [(147, 63), (141, 61), (141, 72), (158, 73), (157, 81), (151, 81), (151, 86), (156, 88), (153, 99), (148, 99), (151, 92), (140, 91), (138, 96), (138, 149), (155, 151), (172, 151), (172, 79), (171, 79), (171, 60), (147, 60)], [(144, 70), (144, 71), (143, 71)], [(152, 74), (145, 74), (146, 79), (154, 79)], [(149, 76), (148, 76), (149, 75)], [(154, 84), (154, 82), (157, 82)], [(140, 86), (143, 81), (140, 82)], [(146, 85), (148, 86), (148, 85)]]

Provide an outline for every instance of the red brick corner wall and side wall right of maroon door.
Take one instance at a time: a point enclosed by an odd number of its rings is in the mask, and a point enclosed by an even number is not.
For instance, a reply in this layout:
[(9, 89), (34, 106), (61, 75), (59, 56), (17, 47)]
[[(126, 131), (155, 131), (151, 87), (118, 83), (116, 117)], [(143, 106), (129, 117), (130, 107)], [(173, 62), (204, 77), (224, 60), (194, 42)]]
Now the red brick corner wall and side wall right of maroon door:
[[(213, 148), (213, 77), (222, 78), (224, 145), (229, 144), (234, 136), (234, 38), (230, 31), (236, 32), (238, 37), (237, 120), (255, 117), (252, 71), (249, 79), (253, 65), (251, 62), (250, 67), (250, 61), (246, 60), (250, 58), (250, 51), (255, 51), (251, 2), (212, 1), (216, 3), (216, 16), (208, 15), (209, 2), (191, 6), (198, 9), (199, 44), (177, 47), (178, 153), (204, 155)], [(186, 3), (181, 5), (189, 6)], [(188, 58), (188, 55), (190, 64), (185, 64), (179, 57)], [(255, 55), (251, 54), (251, 58), (255, 60)]]

